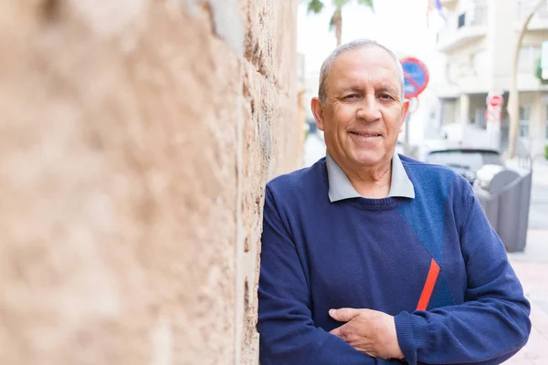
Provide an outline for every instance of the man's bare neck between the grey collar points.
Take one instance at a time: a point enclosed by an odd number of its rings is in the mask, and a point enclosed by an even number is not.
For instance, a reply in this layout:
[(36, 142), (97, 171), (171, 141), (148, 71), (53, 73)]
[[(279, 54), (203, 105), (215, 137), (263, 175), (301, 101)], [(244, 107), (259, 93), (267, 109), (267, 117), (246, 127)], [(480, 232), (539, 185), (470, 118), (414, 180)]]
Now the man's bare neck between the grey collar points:
[[(333, 160), (335, 158), (333, 157)], [(375, 166), (359, 168), (346, 166), (335, 160), (348, 177), (357, 193), (365, 198), (382, 199), (390, 193), (392, 183), (392, 156)]]

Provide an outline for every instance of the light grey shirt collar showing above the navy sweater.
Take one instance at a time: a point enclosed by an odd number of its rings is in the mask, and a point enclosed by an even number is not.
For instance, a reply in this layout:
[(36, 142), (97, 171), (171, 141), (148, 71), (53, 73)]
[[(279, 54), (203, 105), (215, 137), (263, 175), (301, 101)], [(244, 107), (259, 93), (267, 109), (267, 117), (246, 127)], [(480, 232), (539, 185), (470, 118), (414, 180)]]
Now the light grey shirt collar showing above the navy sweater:
[[(329, 200), (331, 203), (343, 199), (362, 198), (353, 188), (341, 167), (335, 162), (329, 153), (326, 153), (327, 178), (329, 181)], [(392, 183), (390, 184), (389, 197), (401, 196), (415, 198), (415, 188), (407, 176), (406, 168), (397, 153), (392, 156)]]

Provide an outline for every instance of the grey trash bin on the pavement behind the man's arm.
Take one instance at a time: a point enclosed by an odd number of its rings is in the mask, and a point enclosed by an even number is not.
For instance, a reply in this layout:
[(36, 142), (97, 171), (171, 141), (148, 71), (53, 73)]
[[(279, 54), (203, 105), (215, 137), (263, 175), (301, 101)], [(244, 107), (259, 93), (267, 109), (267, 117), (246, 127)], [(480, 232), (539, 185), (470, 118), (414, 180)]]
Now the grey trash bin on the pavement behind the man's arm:
[(531, 185), (531, 169), (485, 165), (476, 175), (474, 192), (509, 252), (525, 249)]

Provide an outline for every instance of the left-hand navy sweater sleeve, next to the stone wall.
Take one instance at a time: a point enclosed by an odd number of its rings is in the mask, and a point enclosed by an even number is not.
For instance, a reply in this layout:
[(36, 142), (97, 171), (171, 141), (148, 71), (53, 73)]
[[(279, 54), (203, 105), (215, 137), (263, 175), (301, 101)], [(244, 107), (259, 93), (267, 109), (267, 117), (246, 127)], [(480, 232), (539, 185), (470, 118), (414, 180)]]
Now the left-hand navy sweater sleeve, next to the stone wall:
[(373, 365), (397, 360), (369, 357), (344, 340), (316, 328), (310, 289), (300, 257), (267, 187), (258, 284), (261, 365)]

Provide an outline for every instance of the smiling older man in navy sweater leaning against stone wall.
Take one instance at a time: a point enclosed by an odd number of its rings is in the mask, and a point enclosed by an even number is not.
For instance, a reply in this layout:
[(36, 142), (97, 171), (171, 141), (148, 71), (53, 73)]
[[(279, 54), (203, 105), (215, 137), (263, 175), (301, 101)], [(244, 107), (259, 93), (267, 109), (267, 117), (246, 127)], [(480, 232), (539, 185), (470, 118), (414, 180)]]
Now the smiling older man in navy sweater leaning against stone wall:
[(469, 183), (395, 153), (394, 53), (335, 49), (311, 109), (327, 156), (267, 185), (258, 288), (269, 364), (498, 364), (530, 307)]

